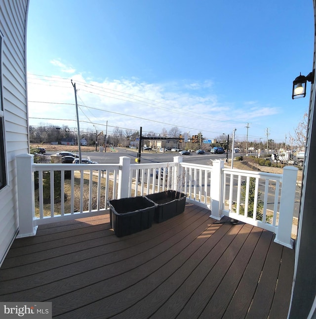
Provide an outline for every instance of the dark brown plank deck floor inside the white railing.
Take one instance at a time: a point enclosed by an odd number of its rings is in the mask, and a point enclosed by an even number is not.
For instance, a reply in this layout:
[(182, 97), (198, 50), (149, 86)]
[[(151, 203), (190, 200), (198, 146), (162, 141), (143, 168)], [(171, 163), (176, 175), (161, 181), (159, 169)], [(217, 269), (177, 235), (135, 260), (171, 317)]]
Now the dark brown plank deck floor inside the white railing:
[(51, 301), (54, 318), (287, 317), (294, 250), (274, 234), (185, 212), (118, 238), (109, 215), (40, 226), (0, 269), (0, 301)]

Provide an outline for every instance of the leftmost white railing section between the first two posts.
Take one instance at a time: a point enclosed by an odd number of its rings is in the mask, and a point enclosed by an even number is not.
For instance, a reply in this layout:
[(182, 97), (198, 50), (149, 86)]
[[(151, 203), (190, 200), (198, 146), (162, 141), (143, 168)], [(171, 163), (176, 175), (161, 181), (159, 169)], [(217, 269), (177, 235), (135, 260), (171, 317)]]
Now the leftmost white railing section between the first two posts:
[[(40, 220), (107, 210), (107, 200), (117, 198), (119, 165), (33, 164), (32, 167), (38, 172)], [(65, 212), (66, 188), (70, 189), (70, 207)], [(44, 215), (45, 201), (50, 205), (50, 216)]]

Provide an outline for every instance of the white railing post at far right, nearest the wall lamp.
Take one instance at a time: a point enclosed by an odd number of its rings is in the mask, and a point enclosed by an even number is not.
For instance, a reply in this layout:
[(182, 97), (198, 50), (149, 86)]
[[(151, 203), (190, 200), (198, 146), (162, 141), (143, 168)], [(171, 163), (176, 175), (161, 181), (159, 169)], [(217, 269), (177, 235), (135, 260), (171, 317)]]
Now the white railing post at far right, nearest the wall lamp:
[(295, 202), (297, 167), (286, 166), (283, 168), (280, 212), (275, 242), (288, 248), (293, 248), (291, 239), (293, 211)]

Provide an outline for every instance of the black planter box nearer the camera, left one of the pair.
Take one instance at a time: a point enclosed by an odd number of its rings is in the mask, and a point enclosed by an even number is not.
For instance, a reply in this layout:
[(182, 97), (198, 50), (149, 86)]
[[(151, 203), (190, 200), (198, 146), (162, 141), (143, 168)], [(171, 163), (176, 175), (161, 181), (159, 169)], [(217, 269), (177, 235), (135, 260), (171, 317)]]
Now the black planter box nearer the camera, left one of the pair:
[(156, 204), (145, 196), (108, 201), (110, 222), (118, 237), (152, 227)]

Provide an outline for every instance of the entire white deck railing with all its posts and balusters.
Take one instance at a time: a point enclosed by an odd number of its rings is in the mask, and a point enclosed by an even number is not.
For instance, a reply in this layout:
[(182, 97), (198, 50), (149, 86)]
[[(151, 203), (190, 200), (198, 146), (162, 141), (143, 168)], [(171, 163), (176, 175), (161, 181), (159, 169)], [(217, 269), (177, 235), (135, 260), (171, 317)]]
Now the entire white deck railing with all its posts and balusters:
[(128, 157), (119, 164), (34, 164), (26, 154), (17, 156), (17, 172), (20, 237), (34, 235), (40, 224), (104, 214), (111, 199), (175, 189), (212, 218), (225, 215), (271, 230), (276, 242), (292, 246), (297, 168), (277, 175), (224, 168), (220, 160), (183, 163), (180, 156), (151, 164), (131, 164)]

